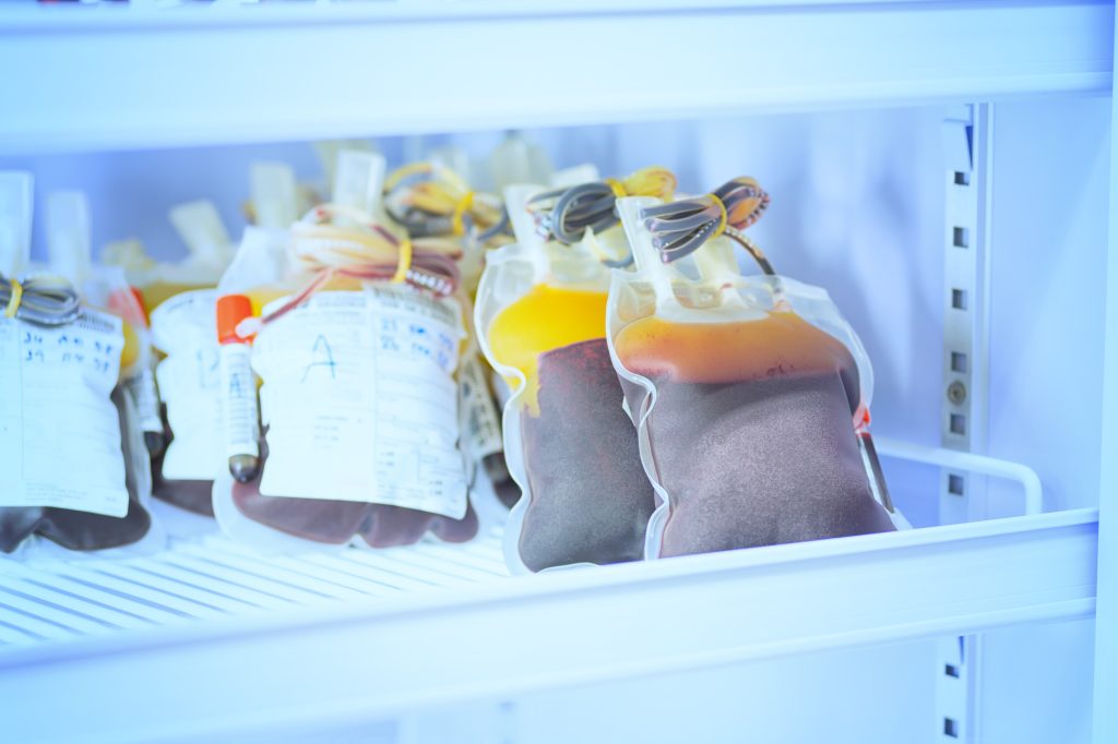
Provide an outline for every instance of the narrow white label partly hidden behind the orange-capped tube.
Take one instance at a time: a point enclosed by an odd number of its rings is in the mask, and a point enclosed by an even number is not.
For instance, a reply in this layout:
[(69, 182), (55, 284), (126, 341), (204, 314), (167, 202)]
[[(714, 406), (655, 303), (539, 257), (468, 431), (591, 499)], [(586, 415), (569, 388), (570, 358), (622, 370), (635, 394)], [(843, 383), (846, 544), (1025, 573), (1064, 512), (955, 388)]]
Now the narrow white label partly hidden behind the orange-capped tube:
[(163, 456), (162, 475), (168, 480), (210, 480), (226, 467), (219, 436), (221, 370), (214, 333), (216, 302), (212, 289), (184, 292), (151, 314), (152, 342), (167, 354), (155, 369), (155, 379), (173, 436)]

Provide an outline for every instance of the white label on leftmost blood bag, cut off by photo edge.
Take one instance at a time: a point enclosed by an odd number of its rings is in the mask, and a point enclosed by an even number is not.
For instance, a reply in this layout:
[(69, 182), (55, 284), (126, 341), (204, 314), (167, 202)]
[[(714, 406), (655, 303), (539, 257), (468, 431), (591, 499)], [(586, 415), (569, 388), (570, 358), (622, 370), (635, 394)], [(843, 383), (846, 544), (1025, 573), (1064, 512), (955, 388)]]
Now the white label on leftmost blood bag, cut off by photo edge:
[(0, 319), (0, 506), (127, 514), (110, 400), (123, 346), (121, 319), (94, 311), (57, 327)]

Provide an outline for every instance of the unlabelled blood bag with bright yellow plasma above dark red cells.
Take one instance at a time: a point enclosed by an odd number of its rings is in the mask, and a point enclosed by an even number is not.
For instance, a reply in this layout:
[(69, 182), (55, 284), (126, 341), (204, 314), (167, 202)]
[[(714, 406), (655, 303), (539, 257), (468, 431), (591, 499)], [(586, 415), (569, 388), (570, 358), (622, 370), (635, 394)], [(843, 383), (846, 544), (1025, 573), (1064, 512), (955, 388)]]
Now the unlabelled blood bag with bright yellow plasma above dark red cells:
[(475, 321), (513, 395), (504, 411), (509, 468), (523, 495), (505, 553), (514, 569), (617, 563), (642, 555), (653, 494), (605, 341), (608, 269), (589, 241), (546, 242), (506, 192), (518, 244), (490, 256)]

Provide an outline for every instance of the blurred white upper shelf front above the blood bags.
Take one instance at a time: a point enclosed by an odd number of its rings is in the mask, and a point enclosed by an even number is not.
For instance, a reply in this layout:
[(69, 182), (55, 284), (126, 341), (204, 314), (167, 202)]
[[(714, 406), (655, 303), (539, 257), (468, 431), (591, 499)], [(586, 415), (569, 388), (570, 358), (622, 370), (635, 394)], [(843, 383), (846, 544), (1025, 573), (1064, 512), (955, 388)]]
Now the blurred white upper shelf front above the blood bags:
[(1108, 94), (1112, 29), (1093, 0), (6, 7), (0, 154)]

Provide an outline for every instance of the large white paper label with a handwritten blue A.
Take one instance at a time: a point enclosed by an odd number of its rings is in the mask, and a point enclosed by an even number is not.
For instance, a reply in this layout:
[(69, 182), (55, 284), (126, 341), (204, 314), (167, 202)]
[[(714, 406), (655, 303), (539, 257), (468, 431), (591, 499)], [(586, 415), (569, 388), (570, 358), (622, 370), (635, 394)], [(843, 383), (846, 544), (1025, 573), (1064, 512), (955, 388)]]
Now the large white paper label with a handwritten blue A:
[(320, 292), (257, 336), (260, 493), (461, 519), (459, 308), (410, 287)]

